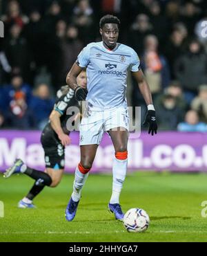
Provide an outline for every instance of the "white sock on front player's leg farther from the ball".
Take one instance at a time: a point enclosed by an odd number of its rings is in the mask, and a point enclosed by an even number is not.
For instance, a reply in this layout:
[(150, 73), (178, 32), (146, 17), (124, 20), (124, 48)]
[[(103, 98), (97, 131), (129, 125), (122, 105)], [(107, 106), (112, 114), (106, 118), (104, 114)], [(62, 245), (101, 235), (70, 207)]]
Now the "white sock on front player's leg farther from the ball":
[(86, 179), (88, 178), (88, 174), (83, 174), (79, 171), (79, 168), (76, 167), (75, 170), (75, 180), (73, 183), (73, 192), (72, 192), (72, 200), (77, 202), (81, 199), (81, 190), (83, 188), (83, 185), (86, 182)]

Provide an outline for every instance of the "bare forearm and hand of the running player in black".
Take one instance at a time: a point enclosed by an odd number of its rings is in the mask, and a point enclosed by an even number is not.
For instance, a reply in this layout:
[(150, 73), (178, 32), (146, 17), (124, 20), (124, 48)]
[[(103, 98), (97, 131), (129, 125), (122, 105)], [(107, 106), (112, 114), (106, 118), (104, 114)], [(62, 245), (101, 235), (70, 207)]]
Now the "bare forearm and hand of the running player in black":
[(50, 125), (52, 129), (56, 132), (59, 140), (61, 140), (61, 144), (63, 146), (66, 146), (70, 144), (70, 137), (67, 134), (64, 134), (61, 127), (60, 117), (61, 114), (58, 111), (52, 110), (52, 112), (50, 113)]

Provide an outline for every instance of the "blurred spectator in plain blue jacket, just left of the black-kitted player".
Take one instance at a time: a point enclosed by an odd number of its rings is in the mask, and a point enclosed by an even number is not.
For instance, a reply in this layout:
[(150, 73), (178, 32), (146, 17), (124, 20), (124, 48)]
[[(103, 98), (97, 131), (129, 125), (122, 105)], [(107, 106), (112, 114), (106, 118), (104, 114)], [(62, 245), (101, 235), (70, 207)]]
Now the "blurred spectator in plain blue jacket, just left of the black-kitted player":
[(39, 84), (34, 91), (34, 96), (29, 106), (37, 129), (41, 130), (45, 127), (54, 104), (55, 101), (50, 97), (49, 86), (47, 84)]

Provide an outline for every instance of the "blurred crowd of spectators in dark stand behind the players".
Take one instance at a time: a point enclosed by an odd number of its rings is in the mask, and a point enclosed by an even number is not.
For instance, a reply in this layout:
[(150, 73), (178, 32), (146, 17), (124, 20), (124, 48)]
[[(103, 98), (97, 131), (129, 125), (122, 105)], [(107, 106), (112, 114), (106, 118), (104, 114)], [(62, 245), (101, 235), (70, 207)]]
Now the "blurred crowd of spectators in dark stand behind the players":
[(43, 128), (77, 55), (101, 41), (106, 14), (121, 19), (119, 42), (139, 55), (159, 130), (207, 131), (206, 0), (0, 0), (0, 129)]

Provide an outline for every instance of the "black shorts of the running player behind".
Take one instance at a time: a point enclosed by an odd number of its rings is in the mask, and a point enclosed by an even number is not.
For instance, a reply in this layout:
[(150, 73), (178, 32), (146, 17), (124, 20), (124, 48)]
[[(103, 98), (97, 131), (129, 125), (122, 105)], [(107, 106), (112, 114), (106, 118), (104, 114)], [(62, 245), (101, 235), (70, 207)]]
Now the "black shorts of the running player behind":
[(65, 167), (65, 147), (53, 131), (50, 124), (46, 125), (41, 134), (41, 145), (45, 152), (45, 162), (47, 168), (55, 170)]

